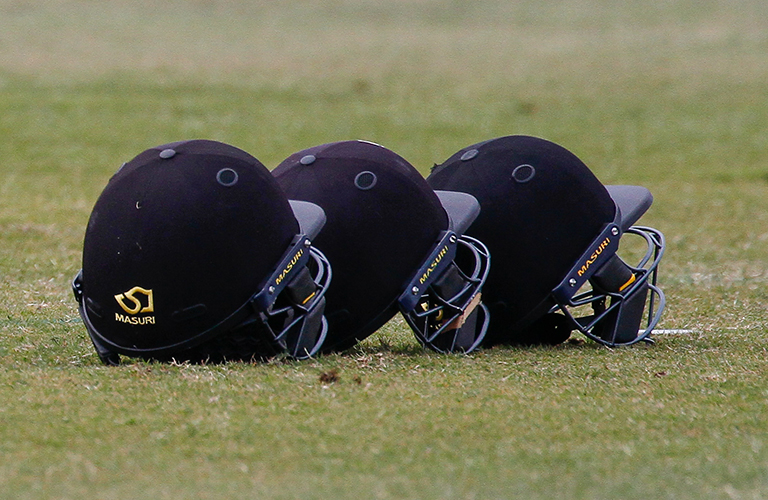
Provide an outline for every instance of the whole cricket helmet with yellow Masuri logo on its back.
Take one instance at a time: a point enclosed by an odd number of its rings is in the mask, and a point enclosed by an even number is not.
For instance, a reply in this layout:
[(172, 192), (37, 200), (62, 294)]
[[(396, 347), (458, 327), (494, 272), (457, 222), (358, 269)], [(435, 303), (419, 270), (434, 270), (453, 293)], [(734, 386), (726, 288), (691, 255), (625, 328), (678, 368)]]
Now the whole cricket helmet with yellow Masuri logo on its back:
[(327, 332), (330, 266), (311, 246), (324, 221), (233, 146), (192, 140), (139, 154), (96, 201), (73, 282), (99, 357), (313, 355)]

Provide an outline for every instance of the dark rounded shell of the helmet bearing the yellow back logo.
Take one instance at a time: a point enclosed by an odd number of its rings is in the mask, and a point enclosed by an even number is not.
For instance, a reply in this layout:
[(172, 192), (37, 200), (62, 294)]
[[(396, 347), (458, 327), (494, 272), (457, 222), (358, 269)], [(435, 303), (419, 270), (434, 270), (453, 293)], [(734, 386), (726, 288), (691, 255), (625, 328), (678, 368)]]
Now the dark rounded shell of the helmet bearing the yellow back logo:
[(83, 248), (83, 307), (110, 345), (194, 345), (265, 284), (299, 232), (269, 171), (233, 146), (192, 140), (123, 165)]

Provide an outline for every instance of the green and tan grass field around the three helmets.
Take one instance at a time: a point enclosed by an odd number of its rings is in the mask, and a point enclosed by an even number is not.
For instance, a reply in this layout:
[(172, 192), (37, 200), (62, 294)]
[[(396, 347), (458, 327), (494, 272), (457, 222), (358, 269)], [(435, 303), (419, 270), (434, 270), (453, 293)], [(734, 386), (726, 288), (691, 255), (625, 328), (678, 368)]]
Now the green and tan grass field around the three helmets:
[[(69, 283), (142, 150), (361, 138), (426, 174), (507, 134), (651, 189), (692, 333), (99, 364)], [(0, 498), (768, 498), (768, 4), (0, 0), (0, 279)]]

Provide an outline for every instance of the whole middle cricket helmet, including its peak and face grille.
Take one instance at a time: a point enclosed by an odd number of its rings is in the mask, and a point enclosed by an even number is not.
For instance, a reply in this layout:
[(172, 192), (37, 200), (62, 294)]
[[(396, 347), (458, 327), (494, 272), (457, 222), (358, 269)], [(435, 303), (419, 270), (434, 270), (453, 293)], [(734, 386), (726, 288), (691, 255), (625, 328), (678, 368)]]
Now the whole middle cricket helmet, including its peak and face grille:
[(289, 197), (316, 203), (328, 217), (315, 240), (334, 270), (324, 351), (353, 346), (398, 309), (431, 349), (470, 352), (480, 344), (489, 255), (463, 234), (480, 210), (474, 197), (434, 192), (405, 159), (366, 141), (299, 151), (272, 173)]

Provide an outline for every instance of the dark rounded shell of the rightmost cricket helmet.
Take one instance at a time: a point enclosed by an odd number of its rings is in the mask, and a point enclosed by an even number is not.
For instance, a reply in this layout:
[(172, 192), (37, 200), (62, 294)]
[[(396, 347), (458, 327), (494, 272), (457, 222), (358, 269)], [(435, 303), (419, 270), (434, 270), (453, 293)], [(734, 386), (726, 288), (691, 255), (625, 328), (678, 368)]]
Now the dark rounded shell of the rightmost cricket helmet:
[(567, 149), (507, 136), (461, 149), (435, 166), (434, 189), (463, 191), (481, 212), (467, 234), (493, 257), (483, 301), (486, 344), (515, 340), (554, 305), (550, 294), (616, 214), (614, 201)]

